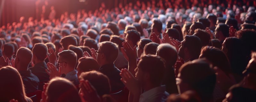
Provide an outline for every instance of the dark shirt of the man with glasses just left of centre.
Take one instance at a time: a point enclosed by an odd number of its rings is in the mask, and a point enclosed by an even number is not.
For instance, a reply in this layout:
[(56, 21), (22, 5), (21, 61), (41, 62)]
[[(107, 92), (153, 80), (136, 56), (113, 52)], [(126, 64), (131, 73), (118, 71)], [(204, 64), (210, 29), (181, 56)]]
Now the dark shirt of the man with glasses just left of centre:
[(124, 89), (124, 83), (120, 80), (120, 70), (114, 64), (106, 64), (100, 67), (99, 72), (108, 76), (111, 93), (116, 93)]

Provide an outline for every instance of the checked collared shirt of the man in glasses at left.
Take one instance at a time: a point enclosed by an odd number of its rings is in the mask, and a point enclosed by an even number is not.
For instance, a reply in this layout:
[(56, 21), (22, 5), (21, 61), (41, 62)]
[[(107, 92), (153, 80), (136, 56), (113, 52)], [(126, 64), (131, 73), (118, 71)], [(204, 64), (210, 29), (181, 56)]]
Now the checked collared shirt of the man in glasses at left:
[(79, 84), (79, 81), (78, 81), (78, 78), (77, 78), (77, 71), (76, 70), (68, 72), (64, 78), (66, 78), (69, 81), (73, 82), (75, 85)]

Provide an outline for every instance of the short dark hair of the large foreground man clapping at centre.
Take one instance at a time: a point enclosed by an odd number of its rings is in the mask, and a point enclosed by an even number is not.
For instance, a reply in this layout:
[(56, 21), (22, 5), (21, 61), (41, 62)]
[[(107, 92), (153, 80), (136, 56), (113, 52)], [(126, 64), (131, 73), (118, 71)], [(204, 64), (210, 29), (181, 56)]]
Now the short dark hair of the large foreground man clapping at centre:
[(142, 56), (138, 68), (149, 74), (149, 80), (153, 85), (161, 85), (164, 80), (165, 61), (159, 56)]

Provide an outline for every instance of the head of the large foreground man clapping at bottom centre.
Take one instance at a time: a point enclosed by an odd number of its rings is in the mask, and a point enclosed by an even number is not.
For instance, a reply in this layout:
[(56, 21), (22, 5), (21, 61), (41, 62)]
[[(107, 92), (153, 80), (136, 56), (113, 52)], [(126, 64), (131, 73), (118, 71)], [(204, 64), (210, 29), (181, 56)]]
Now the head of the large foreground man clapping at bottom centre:
[(139, 81), (142, 88), (147, 88), (149, 85), (158, 87), (164, 79), (165, 61), (155, 55), (142, 56), (135, 72), (135, 78)]

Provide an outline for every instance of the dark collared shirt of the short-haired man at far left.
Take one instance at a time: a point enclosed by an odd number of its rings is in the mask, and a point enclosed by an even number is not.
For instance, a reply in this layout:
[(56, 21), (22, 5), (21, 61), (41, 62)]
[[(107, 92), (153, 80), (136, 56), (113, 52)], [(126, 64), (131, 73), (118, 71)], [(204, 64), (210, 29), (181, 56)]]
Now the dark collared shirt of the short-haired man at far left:
[(39, 79), (36, 75), (31, 73), (31, 70), (19, 71), (19, 73), (25, 86), (26, 93), (38, 90)]

